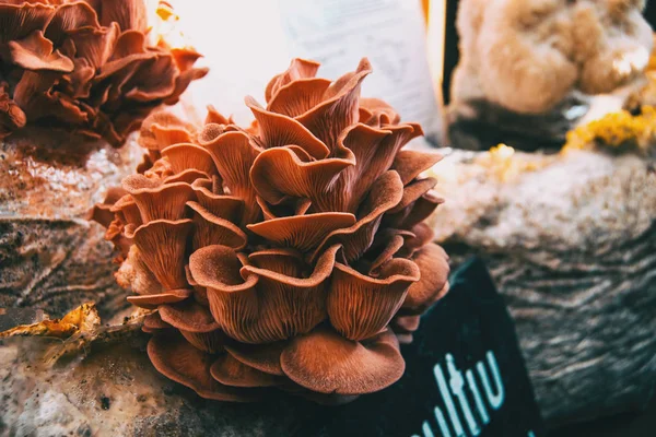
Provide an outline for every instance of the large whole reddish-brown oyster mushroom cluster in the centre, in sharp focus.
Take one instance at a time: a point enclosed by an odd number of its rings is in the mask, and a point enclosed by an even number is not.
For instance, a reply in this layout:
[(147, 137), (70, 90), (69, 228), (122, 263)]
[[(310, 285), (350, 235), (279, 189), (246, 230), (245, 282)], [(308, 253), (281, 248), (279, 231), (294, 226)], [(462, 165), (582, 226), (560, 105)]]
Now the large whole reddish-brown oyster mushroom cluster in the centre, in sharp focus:
[(335, 82), (295, 59), (247, 97), (243, 129), (165, 113), (141, 130), (141, 173), (93, 217), (122, 251), (118, 282), (149, 315), (148, 354), (204, 398), (268, 388), (318, 402), (382, 390), (405, 370), (399, 343), (448, 290), (448, 258), (424, 220), (442, 202), (420, 175), (440, 156), (361, 98), (363, 59)]

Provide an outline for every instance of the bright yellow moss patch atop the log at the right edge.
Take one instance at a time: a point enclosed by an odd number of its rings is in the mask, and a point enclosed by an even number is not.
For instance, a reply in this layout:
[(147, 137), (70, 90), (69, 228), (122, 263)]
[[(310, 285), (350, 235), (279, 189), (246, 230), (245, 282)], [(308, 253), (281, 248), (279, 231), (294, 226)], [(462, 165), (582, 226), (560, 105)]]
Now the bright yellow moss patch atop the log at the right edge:
[(645, 153), (656, 143), (656, 107), (643, 106), (641, 114), (628, 110), (607, 114), (598, 120), (567, 132), (564, 150), (595, 146), (617, 152)]

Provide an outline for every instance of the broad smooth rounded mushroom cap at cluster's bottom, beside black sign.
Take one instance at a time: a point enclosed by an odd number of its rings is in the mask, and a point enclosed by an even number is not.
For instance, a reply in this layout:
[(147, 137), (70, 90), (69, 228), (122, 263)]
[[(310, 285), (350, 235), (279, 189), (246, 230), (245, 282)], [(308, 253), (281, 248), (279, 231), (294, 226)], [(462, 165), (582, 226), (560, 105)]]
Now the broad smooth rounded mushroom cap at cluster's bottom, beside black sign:
[(293, 339), (280, 361), (284, 374), (300, 386), (347, 395), (389, 387), (406, 368), (398, 341), (389, 330), (356, 342), (329, 329), (317, 329)]

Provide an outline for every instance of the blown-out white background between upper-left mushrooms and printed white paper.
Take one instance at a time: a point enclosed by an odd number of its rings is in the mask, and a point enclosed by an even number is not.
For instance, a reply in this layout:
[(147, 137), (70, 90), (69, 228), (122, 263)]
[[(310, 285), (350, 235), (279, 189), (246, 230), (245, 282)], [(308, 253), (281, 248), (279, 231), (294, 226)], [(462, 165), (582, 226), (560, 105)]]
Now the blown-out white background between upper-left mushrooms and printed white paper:
[(236, 121), (253, 119), (244, 97), (263, 103), (263, 90), (284, 71), (290, 55), (276, 0), (167, 0), (180, 16), (178, 27), (188, 43), (204, 56), (198, 64), (210, 73), (189, 87), (194, 106), (204, 116), (212, 104)]

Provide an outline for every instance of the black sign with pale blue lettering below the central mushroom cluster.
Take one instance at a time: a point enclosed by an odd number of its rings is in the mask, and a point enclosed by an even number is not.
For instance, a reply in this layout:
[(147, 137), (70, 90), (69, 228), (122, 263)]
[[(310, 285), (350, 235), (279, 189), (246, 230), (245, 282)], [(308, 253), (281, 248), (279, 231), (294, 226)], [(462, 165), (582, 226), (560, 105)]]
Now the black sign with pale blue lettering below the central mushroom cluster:
[(308, 414), (298, 435), (542, 435), (513, 321), (480, 259), (454, 273), (449, 294), (402, 353), (406, 374), (396, 385)]

